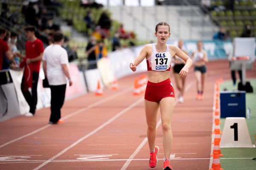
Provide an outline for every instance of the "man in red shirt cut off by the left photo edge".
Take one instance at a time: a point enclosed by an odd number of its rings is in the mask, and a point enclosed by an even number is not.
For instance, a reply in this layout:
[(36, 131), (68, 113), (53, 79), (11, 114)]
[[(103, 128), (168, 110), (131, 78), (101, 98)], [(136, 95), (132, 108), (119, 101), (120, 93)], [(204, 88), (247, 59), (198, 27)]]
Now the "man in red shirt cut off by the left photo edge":
[[(12, 54), (9, 51), (8, 44), (3, 40), (6, 33), (6, 29), (0, 28), (0, 71), (2, 70), (4, 56), (10, 61), (12, 60)], [(6, 84), (6, 72), (0, 72), (0, 85), (1, 84)]]

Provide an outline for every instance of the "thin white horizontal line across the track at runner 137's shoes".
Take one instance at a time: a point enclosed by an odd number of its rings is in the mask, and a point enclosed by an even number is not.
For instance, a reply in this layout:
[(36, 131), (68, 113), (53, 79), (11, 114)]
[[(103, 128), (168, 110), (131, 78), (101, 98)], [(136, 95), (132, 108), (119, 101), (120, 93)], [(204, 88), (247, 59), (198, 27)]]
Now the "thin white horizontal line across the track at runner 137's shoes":
[[(171, 160), (209, 160), (210, 158), (170, 158)], [(220, 159), (253, 159), (253, 158), (220, 158)], [(91, 160), (52, 160), (55, 162), (94, 162), (94, 161), (147, 161), (148, 159), (91, 159)], [(163, 159), (158, 159), (163, 160)], [(25, 160), (25, 161), (0, 161), (0, 164), (20, 164), (20, 163), (42, 163), (46, 160)]]

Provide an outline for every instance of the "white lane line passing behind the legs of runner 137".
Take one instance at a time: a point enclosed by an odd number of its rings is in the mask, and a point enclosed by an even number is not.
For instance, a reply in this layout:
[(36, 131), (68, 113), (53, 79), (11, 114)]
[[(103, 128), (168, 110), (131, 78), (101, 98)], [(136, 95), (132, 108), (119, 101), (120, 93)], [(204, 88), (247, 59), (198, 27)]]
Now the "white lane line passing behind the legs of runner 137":
[[(188, 91), (189, 88), (191, 88), (191, 86), (195, 83), (195, 81), (190, 82), (185, 91)], [(177, 105), (178, 100), (175, 100), (174, 105)], [(157, 122), (157, 127), (161, 125), (161, 119)], [(134, 153), (131, 154), (131, 156), (129, 157), (129, 159), (125, 162), (125, 164), (122, 166), (122, 168), (120, 170), (126, 170), (126, 168), (129, 166), (129, 164), (131, 163), (131, 161), (134, 159), (134, 157), (137, 155), (137, 153), (139, 153), (139, 151), (141, 150), (141, 148), (144, 146), (144, 144), (148, 141), (148, 138), (145, 137), (145, 139), (140, 143), (140, 145), (137, 147), (137, 149), (134, 151)]]

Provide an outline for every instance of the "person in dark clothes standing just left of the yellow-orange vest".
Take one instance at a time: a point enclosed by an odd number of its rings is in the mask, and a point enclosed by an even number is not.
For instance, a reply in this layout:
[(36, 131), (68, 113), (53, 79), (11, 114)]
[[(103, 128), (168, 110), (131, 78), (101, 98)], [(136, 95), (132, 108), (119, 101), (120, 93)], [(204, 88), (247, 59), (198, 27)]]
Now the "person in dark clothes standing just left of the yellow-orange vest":
[(90, 41), (88, 42), (85, 49), (88, 63), (89, 63), (88, 70), (97, 68), (95, 48), (96, 48), (96, 38), (92, 36), (90, 37)]

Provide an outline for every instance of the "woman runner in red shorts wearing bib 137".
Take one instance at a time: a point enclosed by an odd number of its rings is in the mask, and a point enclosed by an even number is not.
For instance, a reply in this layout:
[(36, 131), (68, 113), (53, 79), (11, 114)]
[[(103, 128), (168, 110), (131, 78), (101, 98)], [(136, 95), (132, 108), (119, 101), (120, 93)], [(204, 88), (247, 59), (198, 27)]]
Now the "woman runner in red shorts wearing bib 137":
[(148, 66), (148, 83), (145, 91), (145, 113), (147, 121), (147, 136), (150, 150), (149, 166), (157, 165), (157, 153), (159, 147), (155, 146), (157, 111), (160, 107), (162, 130), (163, 130), (163, 149), (165, 161), (163, 170), (172, 170), (170, 165), (170, 154), (172, 146), (171, 119), (174, 109), (174, 89), (170, 81), (171, 58), (175, 55), (186, 62), (180, 71), (180, 77), (184, 78), (189, 72), (192, 60), (175, 45), (167, 45), (170, 37), (170, 26), (168, 23), (158, 23), (155, 27), (157, 43), (148, 44), (143, 47), (136, 59), (131, 62), (130, 68), (136, 71), (143, 59), (146, 58)]

